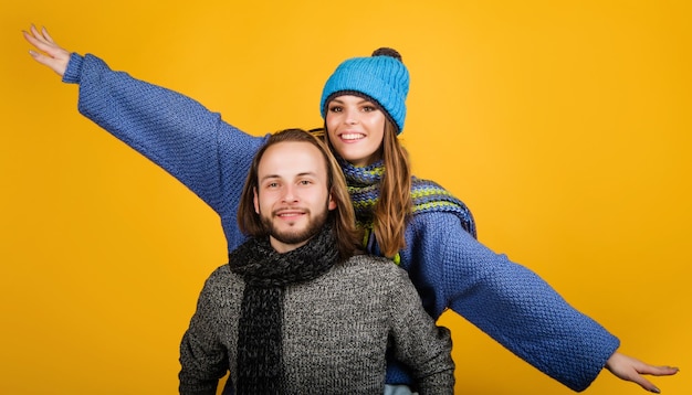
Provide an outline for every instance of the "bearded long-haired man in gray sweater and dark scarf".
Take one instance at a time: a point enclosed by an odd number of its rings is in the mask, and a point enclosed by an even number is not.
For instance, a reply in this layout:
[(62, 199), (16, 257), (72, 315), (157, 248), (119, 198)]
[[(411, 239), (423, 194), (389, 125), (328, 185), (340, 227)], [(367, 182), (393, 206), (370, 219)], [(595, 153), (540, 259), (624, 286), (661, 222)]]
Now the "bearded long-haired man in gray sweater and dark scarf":
[(359, 253), (336, 160), (287, 129), (255, 154), (238, 211), (251, 238), (201, 291), (180, 345), (180, 393), (376, 394), (390, 345), (420, 394), (452, 394), (450, 333), (403, 269)]

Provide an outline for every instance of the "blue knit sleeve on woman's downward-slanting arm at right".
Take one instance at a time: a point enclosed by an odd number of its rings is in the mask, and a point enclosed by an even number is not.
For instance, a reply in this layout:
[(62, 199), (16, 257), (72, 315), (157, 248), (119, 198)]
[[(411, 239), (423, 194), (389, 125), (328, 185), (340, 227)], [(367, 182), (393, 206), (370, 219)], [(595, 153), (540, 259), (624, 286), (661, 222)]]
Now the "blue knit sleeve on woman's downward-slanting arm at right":
[(573, 391), (588, 387), (619, 340), (535, 273), (475, 241), (453, 215), (424, 216), (412, 229), (419, 263), (409, 269), (428, 310), (439, 317), (449, 307)]

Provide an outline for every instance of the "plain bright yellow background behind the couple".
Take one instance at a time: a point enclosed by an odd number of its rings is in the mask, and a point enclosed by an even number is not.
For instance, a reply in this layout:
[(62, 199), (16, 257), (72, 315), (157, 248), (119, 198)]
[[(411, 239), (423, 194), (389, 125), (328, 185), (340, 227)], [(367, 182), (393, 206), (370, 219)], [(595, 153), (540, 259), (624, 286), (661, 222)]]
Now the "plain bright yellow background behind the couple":
[[(170, 394), (203, 280), (226, 260), (197, 196), (78, 115), (28, 55), (63, 46), (260, 135), (321, 125), (344, 58), (401, 52), (418, 175), (480, 239), (692, 391), (692, 17), (665, 1), (10, 1), (0, 12), (0, 393)], [(570, 394), (459, 316), (458, 392)], [(642, 394), (604, 372), (587, 394)]]

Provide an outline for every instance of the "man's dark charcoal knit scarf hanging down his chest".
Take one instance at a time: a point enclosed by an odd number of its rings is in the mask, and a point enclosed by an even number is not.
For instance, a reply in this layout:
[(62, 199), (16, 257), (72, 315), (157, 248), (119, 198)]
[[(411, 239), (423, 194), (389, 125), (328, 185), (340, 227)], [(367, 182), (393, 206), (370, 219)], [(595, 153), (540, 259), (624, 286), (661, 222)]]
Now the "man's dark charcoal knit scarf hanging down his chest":
[(317, 278), (338, 261), (332, 221), (307, 244), (285, 254), (269, 237), (251, 238), (229, 254), (245, 290), (238, 325), (238, 394), (283, 393), (283, 296), (287, 285)]

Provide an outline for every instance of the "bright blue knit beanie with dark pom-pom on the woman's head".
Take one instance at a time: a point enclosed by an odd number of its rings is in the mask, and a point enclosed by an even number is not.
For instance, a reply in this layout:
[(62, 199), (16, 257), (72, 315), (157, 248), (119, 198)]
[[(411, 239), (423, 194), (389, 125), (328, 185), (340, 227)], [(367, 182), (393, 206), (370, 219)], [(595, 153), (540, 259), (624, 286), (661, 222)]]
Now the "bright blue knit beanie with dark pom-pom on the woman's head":
[(401, 55), (392, 49), (381, 47), (370, 57), (353, 57), (336, 67), (322, 90), (319, 110), (326, 118), (327, 104), (336, 96), (356, 95), (379, 105), (397, 126), (403, 130), (406, 96), (409, 93), (409, 72)]

